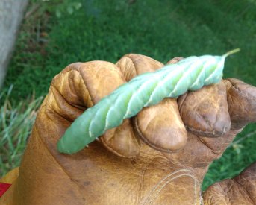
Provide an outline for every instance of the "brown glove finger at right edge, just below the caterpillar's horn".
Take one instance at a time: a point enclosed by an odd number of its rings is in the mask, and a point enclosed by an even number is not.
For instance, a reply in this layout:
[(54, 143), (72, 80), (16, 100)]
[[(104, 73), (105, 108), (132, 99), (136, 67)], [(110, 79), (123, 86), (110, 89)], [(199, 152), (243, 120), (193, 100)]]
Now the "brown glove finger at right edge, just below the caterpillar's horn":
[(256, 122), (256, 87), (234, 78), (224, 82), (228, 93), (231, 129), (237, 130)]

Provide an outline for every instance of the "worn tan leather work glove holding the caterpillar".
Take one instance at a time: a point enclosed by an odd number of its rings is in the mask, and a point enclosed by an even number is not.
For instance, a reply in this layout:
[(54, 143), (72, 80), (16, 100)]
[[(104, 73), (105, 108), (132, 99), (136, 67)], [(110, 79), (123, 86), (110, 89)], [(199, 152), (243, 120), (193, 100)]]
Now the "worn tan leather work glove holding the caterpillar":
[(57, 151), (57, 140), (87, 107), (162, 66), (128, 54), (116, 65), (73, 63), (55, 76), (0, 204), (255, 204), (256, 163), (210, 186), (202, 199), (210, 163), (256, 120), (256, 88), (236, 79), (165, 98), (76, 154)]

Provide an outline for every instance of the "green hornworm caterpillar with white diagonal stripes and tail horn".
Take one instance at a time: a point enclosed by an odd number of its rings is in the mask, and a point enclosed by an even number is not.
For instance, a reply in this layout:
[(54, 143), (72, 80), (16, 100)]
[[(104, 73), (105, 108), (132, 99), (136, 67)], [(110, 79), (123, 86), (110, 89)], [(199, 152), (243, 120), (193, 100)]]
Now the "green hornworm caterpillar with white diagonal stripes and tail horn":
[(237, 51), (239, 49), (222, 56), (187, 57), (155, 72), (138, 75), (75, 119), (57, 142), (58, 151), (78, 152), (106, 130), (137, 115), (143, 107), (157, 104), (163, 98), (177, 98), (187, 90), (218, 83), (222, 79), (225, 57)]

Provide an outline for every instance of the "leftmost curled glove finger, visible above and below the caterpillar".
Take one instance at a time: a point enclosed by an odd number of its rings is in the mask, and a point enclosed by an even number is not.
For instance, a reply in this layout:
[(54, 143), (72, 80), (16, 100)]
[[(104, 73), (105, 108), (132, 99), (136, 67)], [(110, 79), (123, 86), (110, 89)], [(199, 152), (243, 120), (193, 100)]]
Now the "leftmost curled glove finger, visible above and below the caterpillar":
[[(81, 78), (83, 81), (79, 80)], [(54, 93), (57, 90), (54, 94), (57, 103), (52, 104), (51, 107), (72, 122), (81, 115), (82, 110), (92, 107), (122, 83), (125, 83), (125, 79), (113, 63), (104, 61), (74, 63), (54, 78), (52, 86), (55, 89), (52, 90)], [(63, 101), (63, 98), (58, 96), (64, 96), (66, 100)], [(66, 104), (66, 101), (69, 103)], [(80, 109), (74, 112), (75, 107)], [(100, 139), (106, 148), (124, 157), (134, 157), (140, 152), (140, 142), (134, 135), (131, 122), (107, 131)]]

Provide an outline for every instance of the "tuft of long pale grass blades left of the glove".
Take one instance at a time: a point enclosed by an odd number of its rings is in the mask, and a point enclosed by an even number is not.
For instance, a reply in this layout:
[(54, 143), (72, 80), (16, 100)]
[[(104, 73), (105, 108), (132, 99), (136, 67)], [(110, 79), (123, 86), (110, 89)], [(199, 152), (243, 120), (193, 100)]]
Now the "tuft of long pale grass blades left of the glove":
[[(0, 107), (0, 178), (11, 168), (19, 166), (31, 127), (42, 98), (31, 98), (13, 107), (9, 101), (12, 86)], [(4, 93), (1, 93), (0, 99)]]

